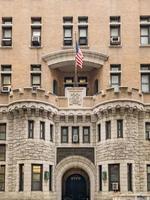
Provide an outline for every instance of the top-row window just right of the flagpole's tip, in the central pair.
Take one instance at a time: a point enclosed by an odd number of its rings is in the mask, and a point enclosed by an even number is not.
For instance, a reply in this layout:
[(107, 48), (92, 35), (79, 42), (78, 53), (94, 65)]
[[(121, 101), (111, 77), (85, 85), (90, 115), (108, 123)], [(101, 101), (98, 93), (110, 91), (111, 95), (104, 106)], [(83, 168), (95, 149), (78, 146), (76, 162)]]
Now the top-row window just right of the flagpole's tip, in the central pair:
[(79, 45), (88, 45), (88, 17), (78, 17)]

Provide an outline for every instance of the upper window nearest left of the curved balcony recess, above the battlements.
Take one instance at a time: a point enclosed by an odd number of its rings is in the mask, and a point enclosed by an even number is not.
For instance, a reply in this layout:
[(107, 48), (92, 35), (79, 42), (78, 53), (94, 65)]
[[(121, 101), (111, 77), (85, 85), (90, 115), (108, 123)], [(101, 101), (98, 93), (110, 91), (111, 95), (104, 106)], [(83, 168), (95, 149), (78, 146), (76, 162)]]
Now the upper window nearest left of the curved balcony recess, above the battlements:
[(33, 90), (41, 87), (41, 65), (31, 65), (31, 86)]

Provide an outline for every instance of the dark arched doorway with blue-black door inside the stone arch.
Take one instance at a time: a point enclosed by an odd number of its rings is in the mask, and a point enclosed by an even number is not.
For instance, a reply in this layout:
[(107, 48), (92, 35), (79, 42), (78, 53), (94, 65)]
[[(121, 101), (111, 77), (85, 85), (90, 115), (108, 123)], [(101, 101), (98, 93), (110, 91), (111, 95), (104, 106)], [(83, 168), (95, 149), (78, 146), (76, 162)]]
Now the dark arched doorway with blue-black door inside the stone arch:
[(90, 181), (81, 169), (71, 169), (62, 178), (62, 200), (90, 200)]

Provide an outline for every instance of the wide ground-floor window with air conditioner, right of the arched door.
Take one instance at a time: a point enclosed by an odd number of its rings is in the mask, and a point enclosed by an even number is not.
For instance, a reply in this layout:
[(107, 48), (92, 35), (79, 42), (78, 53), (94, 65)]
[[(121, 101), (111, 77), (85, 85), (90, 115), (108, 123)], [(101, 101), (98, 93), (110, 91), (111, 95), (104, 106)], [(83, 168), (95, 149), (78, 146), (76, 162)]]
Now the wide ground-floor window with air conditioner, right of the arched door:
[(109, 164), (109, 191), (119, 191), (120, 190), (120, 165), (119, 164)]

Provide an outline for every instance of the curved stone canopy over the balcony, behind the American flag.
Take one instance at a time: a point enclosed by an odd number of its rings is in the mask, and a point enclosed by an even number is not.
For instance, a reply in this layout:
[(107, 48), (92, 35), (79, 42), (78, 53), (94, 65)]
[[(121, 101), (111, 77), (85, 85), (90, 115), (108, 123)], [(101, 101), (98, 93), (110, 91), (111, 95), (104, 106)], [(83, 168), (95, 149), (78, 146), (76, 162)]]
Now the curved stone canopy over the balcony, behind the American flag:
[[(99, 52), (91, 50), (82, 50), (84, 56), (84, 63), (86, 71), (90, 71), (93, 68), (100, 68), (104, 65), (104, 62), (108, 60), (108, 56)], [(60, 69), (62, 71), (72, 70), (75, 65), (75, 51), (71, 50), (61, 50), (58, 52), (53, 52), (42, 57), (42, 59), (47, 62), (51, 69)], [(68, 68), (69, 66), (69, 68)]]

